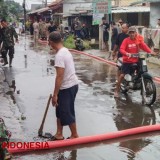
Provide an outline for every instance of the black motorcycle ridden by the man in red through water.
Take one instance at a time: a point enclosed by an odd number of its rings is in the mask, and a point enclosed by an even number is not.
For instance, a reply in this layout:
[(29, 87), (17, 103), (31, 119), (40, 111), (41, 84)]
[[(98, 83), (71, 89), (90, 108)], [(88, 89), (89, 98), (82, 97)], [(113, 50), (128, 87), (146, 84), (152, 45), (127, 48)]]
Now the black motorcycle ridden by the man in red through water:
[(121, 92), (127, 93), (129, 90), (140, 90), (142, 102), (152, 105), (156, 100), (156, 86), (152, 76), (148, 73), (146, 54), (132, 54), (132, 57), (139, 58), (139, 64), (133, 64), (131, 74), (126, 74), (121, 83)]

